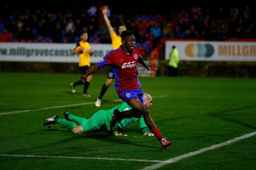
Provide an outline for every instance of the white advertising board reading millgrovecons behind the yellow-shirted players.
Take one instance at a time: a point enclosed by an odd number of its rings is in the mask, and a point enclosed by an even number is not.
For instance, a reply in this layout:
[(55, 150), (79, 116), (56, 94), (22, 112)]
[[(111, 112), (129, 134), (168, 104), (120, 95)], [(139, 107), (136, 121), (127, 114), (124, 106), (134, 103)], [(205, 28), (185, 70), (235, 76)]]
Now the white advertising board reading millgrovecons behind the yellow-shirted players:
[[(111, 44), (90, 44), (94, 50), (90, 62), (101, 60), (112, 50)], [(71, 55), (76, 43), (0, 43), (0, 61), (70, 62), (78, 63), (79, 56)]]

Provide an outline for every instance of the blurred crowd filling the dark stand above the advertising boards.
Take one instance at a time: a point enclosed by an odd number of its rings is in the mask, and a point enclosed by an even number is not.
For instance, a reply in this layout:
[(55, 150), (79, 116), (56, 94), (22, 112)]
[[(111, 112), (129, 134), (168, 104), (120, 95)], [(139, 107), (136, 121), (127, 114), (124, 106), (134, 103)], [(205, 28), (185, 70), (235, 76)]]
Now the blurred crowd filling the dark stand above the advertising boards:
[[(73, 7), (72, 7), (73, 8)], [(132, 11), (132, 6), (127, 7)], [(2, 6), (0, 42), (77, 42), (86, 31), (90, 43), (111, 43), (99, 6), (74, 7), (71, 11), (12, 9)], [(113, 28), (125, 23), (139, 45), (152, 50), (161, 38), (227, 40), (256, 38), (256, 16), (249, 6), (205, 8), (193, 6), (165, 16), (114, 13), (109, 18)], [(117, 30), (116, 30), (117, 31)], [(146, 44), (146, 45), (145, 45)]]

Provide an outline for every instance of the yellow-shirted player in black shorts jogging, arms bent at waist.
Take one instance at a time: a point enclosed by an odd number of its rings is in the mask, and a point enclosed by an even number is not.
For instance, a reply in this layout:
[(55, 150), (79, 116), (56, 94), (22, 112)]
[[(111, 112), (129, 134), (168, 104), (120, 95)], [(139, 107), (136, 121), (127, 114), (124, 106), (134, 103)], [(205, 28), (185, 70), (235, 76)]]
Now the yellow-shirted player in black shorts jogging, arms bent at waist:
[[(82, 73), (85, 74), (86, 71), (90, 67), (90, 56), (93, 55), (93, 50), (90, 48), (88, 40), (88, 34), (86, 32), (81, 34), (81, 41), (79, 41), (76, 45), (76, 48), (72, 51), (72, 54), (79, 54), (79, 68), (81, 69)], [(72, 93), (76, 93), (75, 87), (77, 85), (84, 84), (84, 92), (83, 96), (90, 97), (90, 95), (87, 94), (87, 89), (89, 87), (90, 81), (92, 80), (92, 76), (88, 76), (86, 78), (85, 83), (83, 83), (81, 80), (71, 83)]]

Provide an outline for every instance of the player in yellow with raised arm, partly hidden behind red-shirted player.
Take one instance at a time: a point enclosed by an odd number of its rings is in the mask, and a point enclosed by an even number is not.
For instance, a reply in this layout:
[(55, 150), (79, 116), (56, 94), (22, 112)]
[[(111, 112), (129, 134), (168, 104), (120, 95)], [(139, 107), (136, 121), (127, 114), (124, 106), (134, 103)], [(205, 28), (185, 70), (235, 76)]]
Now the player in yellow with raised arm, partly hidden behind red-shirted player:
[[(108, 19), (108, 15), (107, 15), (107, 13), (108, 13), (108, 6), (102, 6), (101, 10), (102, 10), (103, 17), (105, 19), (105, 23), (106, 23), (106, 25), (108, 27), (108, 32), (109, 32), (109, 35), (111, 37), (113, 50), (115, 50), (115, 49), (119, 48), (120, 45), (122, 45), (121, 36), (120, 35), (121, 35), (122, 31), (126, 30), (126, 26), (124, 24), (121, 24), (118, 27), (118, 33), (119, 34), (116, 35), (116, 32), (114, 31), (113, 27), (111, 26), (110, 20)], [(108, 72), (108, 77), (106, 79), (106, 82), (103, 84), (102, 90), (101, 90), (101, 92), (99, 94), (99, 97), (98, 97), (97, 101), (95, 102), (95, 105), (97, 107), (100, 107), (101, 102), (102, 102), (102, 96), (108, 90), (109, 85), (113, 82), (113, 78), (114, 78), (114, 73), (113, 73), (113, 69), (111, 67), (110, 71)]]

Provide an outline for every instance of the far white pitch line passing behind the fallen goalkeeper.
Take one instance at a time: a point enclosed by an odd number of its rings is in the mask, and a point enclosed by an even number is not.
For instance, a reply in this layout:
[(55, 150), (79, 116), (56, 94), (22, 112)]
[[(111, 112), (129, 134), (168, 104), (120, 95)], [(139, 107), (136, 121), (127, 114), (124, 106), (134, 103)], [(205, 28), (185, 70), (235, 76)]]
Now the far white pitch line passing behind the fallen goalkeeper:
[[(160, 98), (160, 97), (166, 97), (166, 95), (152, 96), (152, 98)], [(121, 99), (113, 100), (113, 102), (118, 102), (118, 101), (121, 101)], [(62, 106), (54, 106), (54, 107), (40, 108), (40, 109), (28, 109), (28, 110), (23, 110), (23, 111), (5, 112), (5, 113), (0, 113), (0, 116), (1, 115), (6, 115), (6, 114), (24, 113), (24, 112), (31, 112), (31, 111), (43, 111), (43, 110), (49, 110), (49, 109), (67, 108), (67, 107), (74, 107), (74, 106), (81, 106), (81, 105), (91, 105), (91, 104), (95, 104), (95, 102), (78, 103), (78, 104), (62, 105)]]

